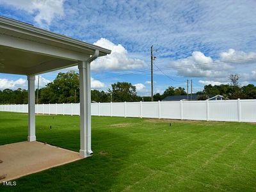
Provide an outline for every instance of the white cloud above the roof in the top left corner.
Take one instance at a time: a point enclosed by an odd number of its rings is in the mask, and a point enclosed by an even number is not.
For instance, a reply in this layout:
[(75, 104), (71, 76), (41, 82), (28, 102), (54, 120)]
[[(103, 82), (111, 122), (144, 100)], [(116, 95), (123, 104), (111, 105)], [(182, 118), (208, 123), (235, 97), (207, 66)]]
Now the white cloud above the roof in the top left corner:
[(1, 0), (0, 4), (8, 4), (35, 15), (35, 22), (47, 28), (54, 17), (63, 17), (63, 3), (64, 0)]

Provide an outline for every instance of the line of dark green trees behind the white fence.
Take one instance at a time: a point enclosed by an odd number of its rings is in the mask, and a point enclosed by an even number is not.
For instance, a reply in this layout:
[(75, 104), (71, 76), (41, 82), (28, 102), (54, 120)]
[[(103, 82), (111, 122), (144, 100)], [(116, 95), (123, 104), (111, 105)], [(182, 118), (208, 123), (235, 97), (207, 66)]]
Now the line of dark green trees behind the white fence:
[[(211, 95), (223, 95), (228, 99), (256, 99), (256, 86), (248, 84), (241, 86), (237, 74), (230, 75), (230, 84), (211, 84), (205, 85), (199, 100), (205, 100)], [(79, 102), (79, 74), (70, 71), (67, 73), (60, 72), (56, 79), (48, 83), (44, 88), (38, 91), (38, 104), (48, 103), (76, 103)], [(36, 95), (35, 92), (35, 95)], [(182, 87), (175, 88), (169, 86), (163, 94), (156, 93), (154, 100), (163, 100), (170, 95), (186, 95)], [(150, 101), (150, 97), (141, 97), (136, 92), (136, 86), (127, 82), (117, 82), (111, 84), (106, 92), (91, 90), (92, 101), (94, 102), (132, 102), (132, 101)], [(17, 90), (0, 90), (0, 104), (28, 104), (28, 90), (18, 88)]]

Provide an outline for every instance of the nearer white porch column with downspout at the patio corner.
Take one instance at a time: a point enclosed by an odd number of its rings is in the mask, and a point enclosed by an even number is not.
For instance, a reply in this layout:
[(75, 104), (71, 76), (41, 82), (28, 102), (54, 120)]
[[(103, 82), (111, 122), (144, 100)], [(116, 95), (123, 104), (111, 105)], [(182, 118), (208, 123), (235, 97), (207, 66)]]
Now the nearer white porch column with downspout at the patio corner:
[(82, 157), (93, 154), (91, 148), (91, 76), (90, 62), (80, 61), (79, 65), (80, 88), (80, 150)]

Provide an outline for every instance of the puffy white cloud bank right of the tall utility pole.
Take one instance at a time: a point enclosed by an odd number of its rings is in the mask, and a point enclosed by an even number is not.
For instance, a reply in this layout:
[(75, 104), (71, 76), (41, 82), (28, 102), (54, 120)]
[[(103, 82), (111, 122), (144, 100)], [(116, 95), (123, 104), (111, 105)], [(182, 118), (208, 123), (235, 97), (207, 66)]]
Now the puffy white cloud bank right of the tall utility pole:
[[(214, 79), (227, 79), (230, 74), (241, 74), (243, 70), (248, 70), (248, 65), (252, 61), (230, 62), (232, 60), (248, 60), (255, 58), (256, 52), (243, 52), (228, 49), (227, 52), (220, 52), (220, 58), (213, 60), (210, 56), (205, 56), (203, 52), (194, 51), (191, 56), (172, 61), (171, 65), (177, 67), (177, 74), (184, 77), (207, 77)], [(214, 64), (215, 63), (215, 64)], [(202, 65), (201, 65), (202, 64)], [(205, 65), (204, 65), (205, 64)], [(246, 67), (243, 67), (246, 65)], [(189, 67), (186, 67), (189, 66)], [(246, 74), (251, 76), (252, 74)], [(250, 79), (250, 78), (248, 78)], [(245, 79), (241, 79), (245, 80)], [(226, 80), (224, 80), (226, 81)]]

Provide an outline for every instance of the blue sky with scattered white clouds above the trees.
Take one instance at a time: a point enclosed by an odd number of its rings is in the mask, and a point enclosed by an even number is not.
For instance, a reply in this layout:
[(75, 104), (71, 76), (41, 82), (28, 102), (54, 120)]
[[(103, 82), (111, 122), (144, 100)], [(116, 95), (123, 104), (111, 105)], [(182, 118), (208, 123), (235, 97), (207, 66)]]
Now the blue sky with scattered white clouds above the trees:
[[(234, 73), (241, 84), (255, 84), (255, 60), (228, 62), (256, 58), (255, 7), (256, 1), (1, 0), (0, 14), (111, 49), (92, 63), (92, 87), (107, 90), (128, 81), (149, 95), (151, 45), (161, 69), (154, 67), (155, 92), (185, 88), (186, 79), (193, 79), (196, 92), (228, 83)], [(41, 86), (58, 72), (40, 76)], [(19, 86), (26, 88), (26, 77), (0, 74), (0, 89)]]

